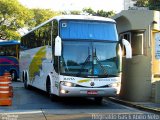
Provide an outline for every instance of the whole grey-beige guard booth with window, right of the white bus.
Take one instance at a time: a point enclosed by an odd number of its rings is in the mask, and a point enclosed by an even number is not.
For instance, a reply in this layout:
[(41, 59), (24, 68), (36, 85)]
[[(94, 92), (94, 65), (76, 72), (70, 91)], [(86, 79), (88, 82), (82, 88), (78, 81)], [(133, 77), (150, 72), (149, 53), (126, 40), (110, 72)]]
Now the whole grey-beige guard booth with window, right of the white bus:
[(113, 19), (120, 38), (131, 43), (133, 52), (132, 59), (123, 59), (119, 97), (160, 102), (160, 12), (126, 10)]

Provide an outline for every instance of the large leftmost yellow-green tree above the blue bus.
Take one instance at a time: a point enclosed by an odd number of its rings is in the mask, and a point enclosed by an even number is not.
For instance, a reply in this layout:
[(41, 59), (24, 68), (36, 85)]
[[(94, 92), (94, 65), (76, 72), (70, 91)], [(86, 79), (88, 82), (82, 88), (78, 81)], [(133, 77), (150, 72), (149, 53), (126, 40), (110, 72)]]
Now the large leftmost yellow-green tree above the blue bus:
[(0, 0), (0, 39), (19, 39), (18, 30), (31, 25), (33, 14), (17, 0)]

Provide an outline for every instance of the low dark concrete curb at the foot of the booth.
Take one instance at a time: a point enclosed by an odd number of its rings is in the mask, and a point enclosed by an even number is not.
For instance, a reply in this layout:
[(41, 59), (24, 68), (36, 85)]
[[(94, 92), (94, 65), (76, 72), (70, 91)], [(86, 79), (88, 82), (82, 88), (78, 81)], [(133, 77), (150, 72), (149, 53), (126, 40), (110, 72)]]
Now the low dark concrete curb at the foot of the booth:
[(137, 108), (137, 109), (140, 109), (140, 110), (144, 110), (144, 111), (154, 112), (156, 114), (157, 113), (160, 114), (160, 108), (158, 109), (158, 108), (145, 106), (145, 105), (142, 105), (142, 104), (136, 104), (136, 103), (133, 103), (133, 102), (121, 100), (121, 99), (114, 98), (114, 97), (109, 97), (108, 99), (113, 101), (113, 102), (120, 103), (120, 104), (129, 106), (129, 107), (134, 107), (134, 108)]

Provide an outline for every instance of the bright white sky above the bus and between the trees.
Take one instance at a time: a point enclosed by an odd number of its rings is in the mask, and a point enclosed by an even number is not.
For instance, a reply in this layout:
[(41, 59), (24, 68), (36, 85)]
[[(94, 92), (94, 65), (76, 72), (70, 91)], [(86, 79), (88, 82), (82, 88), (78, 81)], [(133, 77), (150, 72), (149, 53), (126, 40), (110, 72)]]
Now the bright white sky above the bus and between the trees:
[(92, 8), (93, 10), (104, 10), (118, 13), (124, 9), (124, 0), (19, 0), (28, 8), (53, 9), (55, 11), (82, 10)]

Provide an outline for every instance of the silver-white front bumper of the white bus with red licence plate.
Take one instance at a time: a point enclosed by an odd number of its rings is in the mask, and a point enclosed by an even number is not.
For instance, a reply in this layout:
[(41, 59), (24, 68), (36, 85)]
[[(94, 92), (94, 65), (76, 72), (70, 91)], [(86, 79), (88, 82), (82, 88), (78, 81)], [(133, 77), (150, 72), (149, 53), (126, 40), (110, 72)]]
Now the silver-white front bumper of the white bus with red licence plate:
[(62, 97), (112, 97), (117, 95), (117, 89), (108, 88), (85, 88), (61, 86), (59, 96)]

